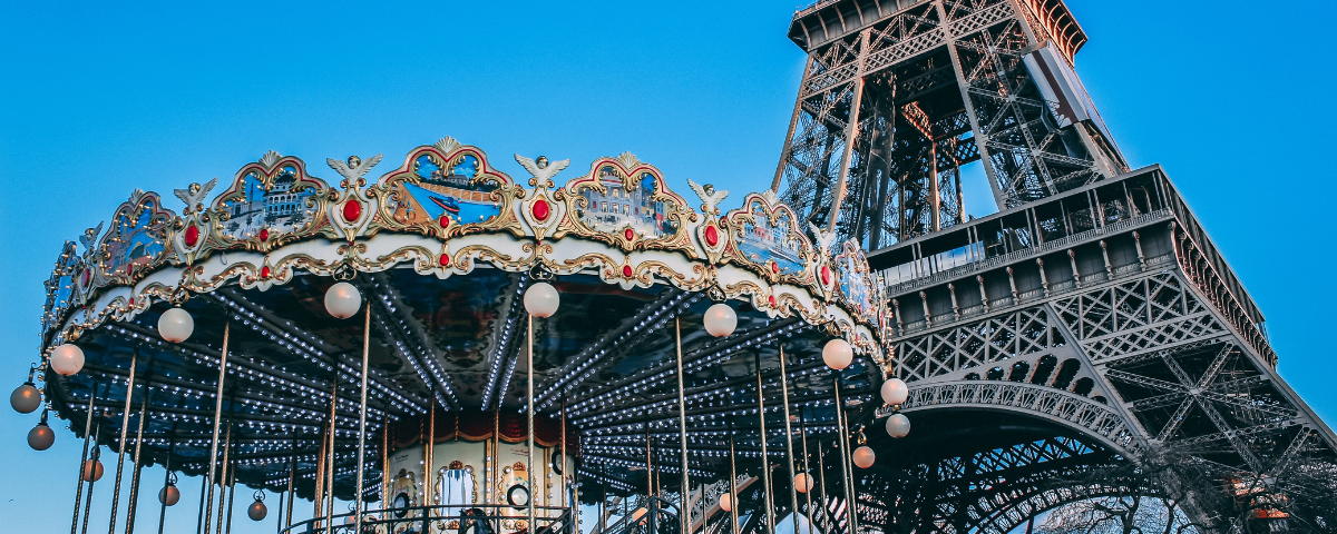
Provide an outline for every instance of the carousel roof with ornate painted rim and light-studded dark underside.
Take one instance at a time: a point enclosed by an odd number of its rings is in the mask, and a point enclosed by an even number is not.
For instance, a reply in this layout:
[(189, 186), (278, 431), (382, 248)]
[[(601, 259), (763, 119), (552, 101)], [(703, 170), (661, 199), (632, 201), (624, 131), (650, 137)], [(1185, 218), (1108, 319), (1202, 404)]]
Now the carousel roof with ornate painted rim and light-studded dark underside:
[[(559, 290), (562, 307), (535, 320), (536, 411), (555, 418), (564, 407), (582, 457), (603, 463), (599, 477), (615, 486), (644, 466), (647, 435), (663, 469), (677, 465), (678, 328), (691, 467), (703, 474), (727, 473), (730, 435), (742, 455), (759, 454), (758, 376), (767, 418), (777, 418), (767, 427), (783, 427), (781, 348), (792, 410), (810, 426), (832, 421), (825, 340), (841, 336), (856, 350), (842, 371), (856, 403), (889, 368), (885, 299), (864, 252), (804, 228), (771, 192), (727, 199), (691, 183), (694, 208), (630, 154), (598, 159), (562, 186), (554, 176), (568, 162), (516, 160), (527, 184), (447, 138), (374, 183), (366, 175), (380, 156), (329, 160), (342, 176), (334, 187), (302, 160), (270, 152), (213, 198), (217, 180), (176, 190), (179, 214), (136, 190), (104, 234), (99, 226), (82, 246), (66, 244), (48, 282), (43, 354), (76, 343), (87, 358), (75, 375), (45, 371), (52, 409), (82, 434), (91, 400), (99, 442), (119, 449), (134, 366), (128, 406), (147, 413), (146, 461), (207, 471), (227, 335), (218, 423), (231, 429), (237, 479), (278, 490), (295, 466), (299, 493), (310, 494), (333, 406), (336, 489), (350, 495), (364, 322), (325, 311), (338, 280), (360, 288), (372, 315), (372, 458), (384, 429), (429, 411), (491, 421), (523, 410), (521, 296), (540, 279)], [(702, 327), (714, 302), (737, 311), (733, 335)], [(174, 306), (195, 322), (180, 343), (155, 328)]]

